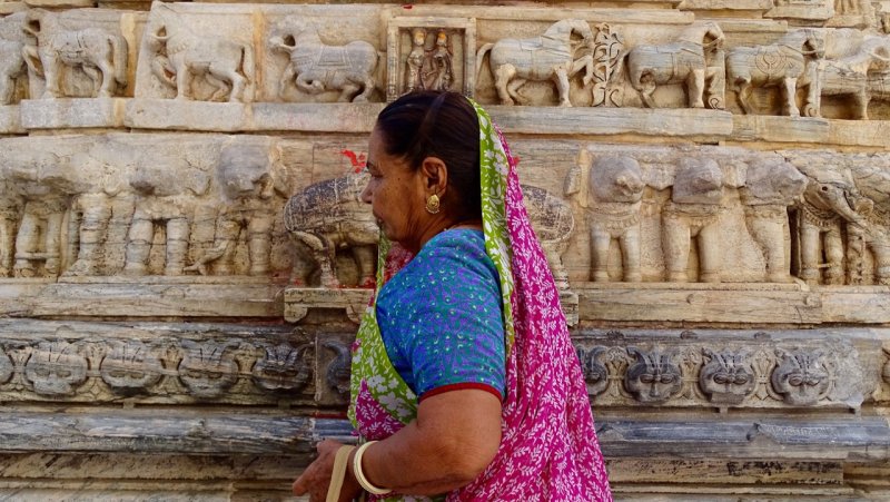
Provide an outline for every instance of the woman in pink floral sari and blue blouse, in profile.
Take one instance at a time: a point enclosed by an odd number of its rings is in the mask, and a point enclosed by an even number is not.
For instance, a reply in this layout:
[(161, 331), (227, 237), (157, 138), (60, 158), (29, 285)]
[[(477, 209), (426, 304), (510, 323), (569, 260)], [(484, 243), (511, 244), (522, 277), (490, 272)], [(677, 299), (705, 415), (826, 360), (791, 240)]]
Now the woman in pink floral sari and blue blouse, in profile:
[(353, 347), (360, 445), (322, 442), (294, 493), (612, 500), (553, 277), (488, 115), (455, 92), (405, 95), (378, 116), (367, 167), (383, 237)]

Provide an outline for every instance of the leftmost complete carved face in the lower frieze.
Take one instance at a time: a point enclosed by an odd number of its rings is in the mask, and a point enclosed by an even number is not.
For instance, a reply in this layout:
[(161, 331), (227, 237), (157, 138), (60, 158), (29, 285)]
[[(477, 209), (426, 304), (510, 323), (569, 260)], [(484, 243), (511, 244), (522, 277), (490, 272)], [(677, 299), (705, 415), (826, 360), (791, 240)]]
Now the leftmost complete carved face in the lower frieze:
[(87, 380), (87, 366), (79, 346), (62, 341), (40, 342), (24, 365), (24, 377), (38, 394), (71, 395)]

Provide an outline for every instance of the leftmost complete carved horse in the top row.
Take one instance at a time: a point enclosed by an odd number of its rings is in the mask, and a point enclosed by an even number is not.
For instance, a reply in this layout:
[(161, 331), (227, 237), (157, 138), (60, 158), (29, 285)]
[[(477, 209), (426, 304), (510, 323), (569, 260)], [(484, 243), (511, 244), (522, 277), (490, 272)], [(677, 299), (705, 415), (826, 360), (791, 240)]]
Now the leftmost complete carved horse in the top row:
[[(28, 11), (22, 29), (37, 39), (37, 48), (26, 47), (26, 56), (40, 59), (47, 89), (43, 98), (60, 98), (62, 66), (80, 67), (98, 87), (99, 97), (110, 97), (115, 83), (127, 85), (127, 40), (98, 28), (69, 30), (58, 14), (42, 9)], [(31, 65), (29, 65), (31, 66)]]

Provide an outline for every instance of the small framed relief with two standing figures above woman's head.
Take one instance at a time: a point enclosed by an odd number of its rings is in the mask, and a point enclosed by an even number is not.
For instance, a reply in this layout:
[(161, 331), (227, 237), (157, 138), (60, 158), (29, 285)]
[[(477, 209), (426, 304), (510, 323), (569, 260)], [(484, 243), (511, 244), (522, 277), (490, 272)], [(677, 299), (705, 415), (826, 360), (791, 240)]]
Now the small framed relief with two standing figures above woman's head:
[(412, 90), (473, 96), (476, 24), (473, 19), (396, 17), (387, 23), (386, 99)]

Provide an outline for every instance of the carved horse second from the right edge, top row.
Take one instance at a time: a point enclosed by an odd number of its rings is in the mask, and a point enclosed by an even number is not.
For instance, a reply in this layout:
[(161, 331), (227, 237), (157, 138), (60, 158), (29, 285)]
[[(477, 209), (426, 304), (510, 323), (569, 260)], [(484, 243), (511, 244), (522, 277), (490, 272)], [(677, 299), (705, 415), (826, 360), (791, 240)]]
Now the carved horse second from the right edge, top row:
[(803, 112), (808, 117), (819, 115), (819, 109), (810, 104), (818, 101), (818, 63), (812, 59), (825, 56), (825, 41), (815, 30), (798, 29), (785, 35), (775, 43), (760, 47), (736, 47), (726, 52), (726, 78), (735, 89), (739, 105), (745, 114), (751, 114), (751, 92), (753, 87), (781, 86), (783, 108), (789, 116), (800, 117), (795, 102), (798, 86), (809, 81), (808, 105)]

